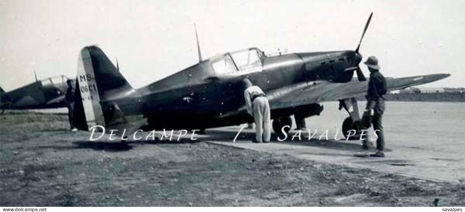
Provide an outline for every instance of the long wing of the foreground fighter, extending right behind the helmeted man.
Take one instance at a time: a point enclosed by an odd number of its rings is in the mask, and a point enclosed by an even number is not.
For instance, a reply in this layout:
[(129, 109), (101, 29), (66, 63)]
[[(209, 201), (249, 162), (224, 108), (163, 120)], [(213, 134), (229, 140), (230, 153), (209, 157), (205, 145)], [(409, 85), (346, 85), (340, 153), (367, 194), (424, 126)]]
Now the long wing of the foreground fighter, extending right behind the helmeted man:
[[(450, 74), (421, 75), (402, 78), (386, 78), (388, 91), (422, 85), (438, 81)], [(271, 109), (308, 105), (322, 101), (334, 101), (364, 96), (368, 81), (332, 83), (328, 81), (310, 81), (269, 91), (266, 97)]]

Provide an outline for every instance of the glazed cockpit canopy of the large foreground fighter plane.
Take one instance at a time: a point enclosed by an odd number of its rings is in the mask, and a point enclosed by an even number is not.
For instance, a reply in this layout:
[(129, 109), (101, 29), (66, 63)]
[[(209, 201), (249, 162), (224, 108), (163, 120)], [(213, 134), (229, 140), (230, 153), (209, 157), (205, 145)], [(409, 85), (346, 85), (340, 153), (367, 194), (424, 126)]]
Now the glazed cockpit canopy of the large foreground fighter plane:
[(265, 54), (257, 48), (226, 53), (210, 59), (217, 75), (244, 75), (262, 71)]

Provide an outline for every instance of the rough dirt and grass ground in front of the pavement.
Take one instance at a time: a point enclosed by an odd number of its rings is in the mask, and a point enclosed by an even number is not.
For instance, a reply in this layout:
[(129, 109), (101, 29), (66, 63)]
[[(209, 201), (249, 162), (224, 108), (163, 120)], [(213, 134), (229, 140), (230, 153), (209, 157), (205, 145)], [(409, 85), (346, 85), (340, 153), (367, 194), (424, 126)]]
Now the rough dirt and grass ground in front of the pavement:
[(90, 142), (65, 114), (0, 115), (0, 206), (465, 206), (452, 184), (203, 142)]

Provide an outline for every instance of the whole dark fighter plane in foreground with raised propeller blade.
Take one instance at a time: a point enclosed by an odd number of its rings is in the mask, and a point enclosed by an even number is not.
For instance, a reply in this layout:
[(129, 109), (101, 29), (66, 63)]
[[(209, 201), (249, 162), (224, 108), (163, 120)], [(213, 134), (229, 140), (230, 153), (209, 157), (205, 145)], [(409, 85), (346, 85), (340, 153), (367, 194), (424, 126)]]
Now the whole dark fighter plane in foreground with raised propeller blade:
[[(349, 114), (343, 121), (343, 132), (359, 133), (356, 98), (365, 95), (367, 89), (367, 80), (359, 67), (359, 49), (372, 15), (355, 50), (267, 56), (258, 48), (248, 48), (204, 60), (196, 30), (199, 62), (139, 89), (129, 85), (99, 47), (86, 46), (80, 50), (78, 60), (74, 125), (85, 131), (98, 125), (134, 131), (141, 127), (194, 130), (252, 123), (242, 87), (243, 79), (248, 78), (266, 93), (272, 128), (277, 133), (289, 131), (290, 116), (319, 115), (323, 110), (320, 102), (336, 100), (339, 109), (344, 108)], [(386, 78), (386, 82), (391, 91), (448, 76)], [(128, 121), (128, 117), (136, 118)]]

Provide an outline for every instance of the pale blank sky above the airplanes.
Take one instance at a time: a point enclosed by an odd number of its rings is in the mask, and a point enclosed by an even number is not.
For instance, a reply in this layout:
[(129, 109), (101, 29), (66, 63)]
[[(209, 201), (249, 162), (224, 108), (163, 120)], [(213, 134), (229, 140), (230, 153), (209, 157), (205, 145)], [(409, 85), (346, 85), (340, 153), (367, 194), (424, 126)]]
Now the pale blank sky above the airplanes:
[(464, 11), (463, 0), (0, 0), (0, 86), (33, 82), (33, 70), (74, 77), (80, 49), (98, 44), (143, 87), (198, 62), (194, 23), (204, 59), (355, 50), (374, 12), (360, 53), (385, 76), (450, 73), (425, 87), (465, 87)]

